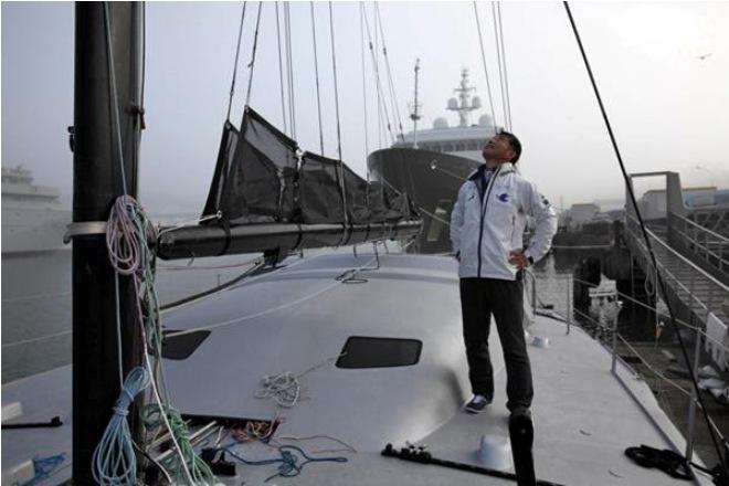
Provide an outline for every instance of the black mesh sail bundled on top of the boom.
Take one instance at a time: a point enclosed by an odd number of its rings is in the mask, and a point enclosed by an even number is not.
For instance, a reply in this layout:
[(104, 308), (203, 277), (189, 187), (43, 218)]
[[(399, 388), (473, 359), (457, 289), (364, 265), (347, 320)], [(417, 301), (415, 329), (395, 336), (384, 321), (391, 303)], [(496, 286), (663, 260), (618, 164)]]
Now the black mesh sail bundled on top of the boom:
[[(392, 224), (419, 219), (405, 193), (367, 182), (340, 160), (304, 152), (251, 107), (225, 122), (203, 216), (250, 223)], [(342, 183), (344, 181), (344, 183)], [(345, 218), (347, 214), (347, 218)]]

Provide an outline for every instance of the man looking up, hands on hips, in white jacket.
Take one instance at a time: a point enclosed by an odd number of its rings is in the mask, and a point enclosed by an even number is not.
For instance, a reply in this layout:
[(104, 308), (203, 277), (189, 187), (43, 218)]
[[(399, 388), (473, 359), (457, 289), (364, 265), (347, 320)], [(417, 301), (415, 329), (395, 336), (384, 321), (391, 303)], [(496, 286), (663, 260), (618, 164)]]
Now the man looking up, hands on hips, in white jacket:
[[(495, 135), (483, 150), (485, 163), (458, 191), (451, 214), (451, 242), (459, 262), (463, 336), (474, 397), (465, 409), (478, 413), (494, 399), (488, 355), (492, 314), (506, 363), (506, 406), (528, 413), (533, 390), (524, 336), (522, 268), (545, 256), (557, 231), (554, 210), (515, 169), (521, 144), (513, 134)], [(526, 216), (537, 228), (525, 250)]]

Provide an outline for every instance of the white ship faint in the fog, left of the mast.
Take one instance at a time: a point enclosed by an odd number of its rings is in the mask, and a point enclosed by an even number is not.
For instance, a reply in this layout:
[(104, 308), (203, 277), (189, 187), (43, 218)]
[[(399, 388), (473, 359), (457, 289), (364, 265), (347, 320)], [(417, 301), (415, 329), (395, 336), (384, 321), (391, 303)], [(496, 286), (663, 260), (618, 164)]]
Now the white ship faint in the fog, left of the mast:
[(22, 166), (2, 168), (2, 254), (71, 250), (63, 243), (71, 210), (57, 188), (36, 186)]

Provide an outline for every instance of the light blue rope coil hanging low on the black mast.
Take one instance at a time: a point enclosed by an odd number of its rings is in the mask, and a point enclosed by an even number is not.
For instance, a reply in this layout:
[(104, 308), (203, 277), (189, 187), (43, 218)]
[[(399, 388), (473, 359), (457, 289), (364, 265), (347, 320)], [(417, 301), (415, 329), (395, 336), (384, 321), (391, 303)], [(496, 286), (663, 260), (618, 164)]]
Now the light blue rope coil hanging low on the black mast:
[(114, 415), (92, 457), (94, 480), (102, 486), (136, 484), (137, 457), (131, 444), (127, 415), (134, 398), (148, 384), (149, 373), (140, 367), (134, 368), (124, 381), (122, 394), (114, 403)]

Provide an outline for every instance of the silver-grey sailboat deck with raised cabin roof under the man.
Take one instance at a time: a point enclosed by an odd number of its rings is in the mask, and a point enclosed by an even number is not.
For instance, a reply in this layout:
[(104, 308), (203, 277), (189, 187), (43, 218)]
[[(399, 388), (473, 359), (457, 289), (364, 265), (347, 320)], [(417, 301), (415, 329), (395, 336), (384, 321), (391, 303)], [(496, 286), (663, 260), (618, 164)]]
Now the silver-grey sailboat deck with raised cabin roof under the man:
[[(166, 360), (172, 403), (187, 413), (262, 420), (278, 415), (284, 419), (274, 436), (278, 444), (296, 445), (315, 457), (348, 459), (309, 463), (296, 477), (275, 477), (265, 484), (514, 484), (380, 455), (388, 442), (400, 447), (411, 441), (427, 444), (435, 457), (482, 465), (477, 454), (480, 436), (508, 436), (508, 412), (496, 332), (492, 334), (494, 404), (479, 415), (461, 409), (469, 389), (454, 262), (383, 255), (379, 270), (358, 273), (366, 282), (337, 283), (336, 277), (348, 268), (371, 266), (372, 262), (372, 255), (355, 257), (351, 252), (305, 258), (170, 313), (165, 319), (170, 329), (231, 321), (211, 329), (188, 359)], [(640, 444), (670, 448), (668, 440), (684, 446), (644, 382), (617, 366), (647, 412), (611, 373), (610, 353), (582, 330), (573, 327), (567, 335), (563, 323), (538, 316), (529, 332), (548, 337), (550, 342), (543, 349), (529, 346), (539, 478), (563, 485), (685, 484), (642, 468), (623, 453)], [(422, 353), (413, 366), (337, 368), (331, 358), (351, 336), (419, 339)], [(293, 408), (279, 409), (271, 400), (254, 397), (264, 374), (302, 373), (313, 367), (317, 368), (302, 377), (303, 400)], [(23, 422), (56, 414), (68, 422), (52, 430), (3, 431), (3, 471), (35, 455), (70, 454), (70, 367), (3, 385), (3, 404), (13, 401), (23, 402)], [(317, 452), (341, 448), (327, 439), (277, 439), (313, 435), (336, 437), (358, 452)], [(230, 442), (228, 436), (221, 444)], [(247, 459), (278, 456), (275, 447), (261, 443), (234, 448)], [(237, 464), (239, 475), (221, 480), (264, 484), (276, 471), (276, 465)], [(66, 467), (41, 484), (57, 484), (70, 475)]]

